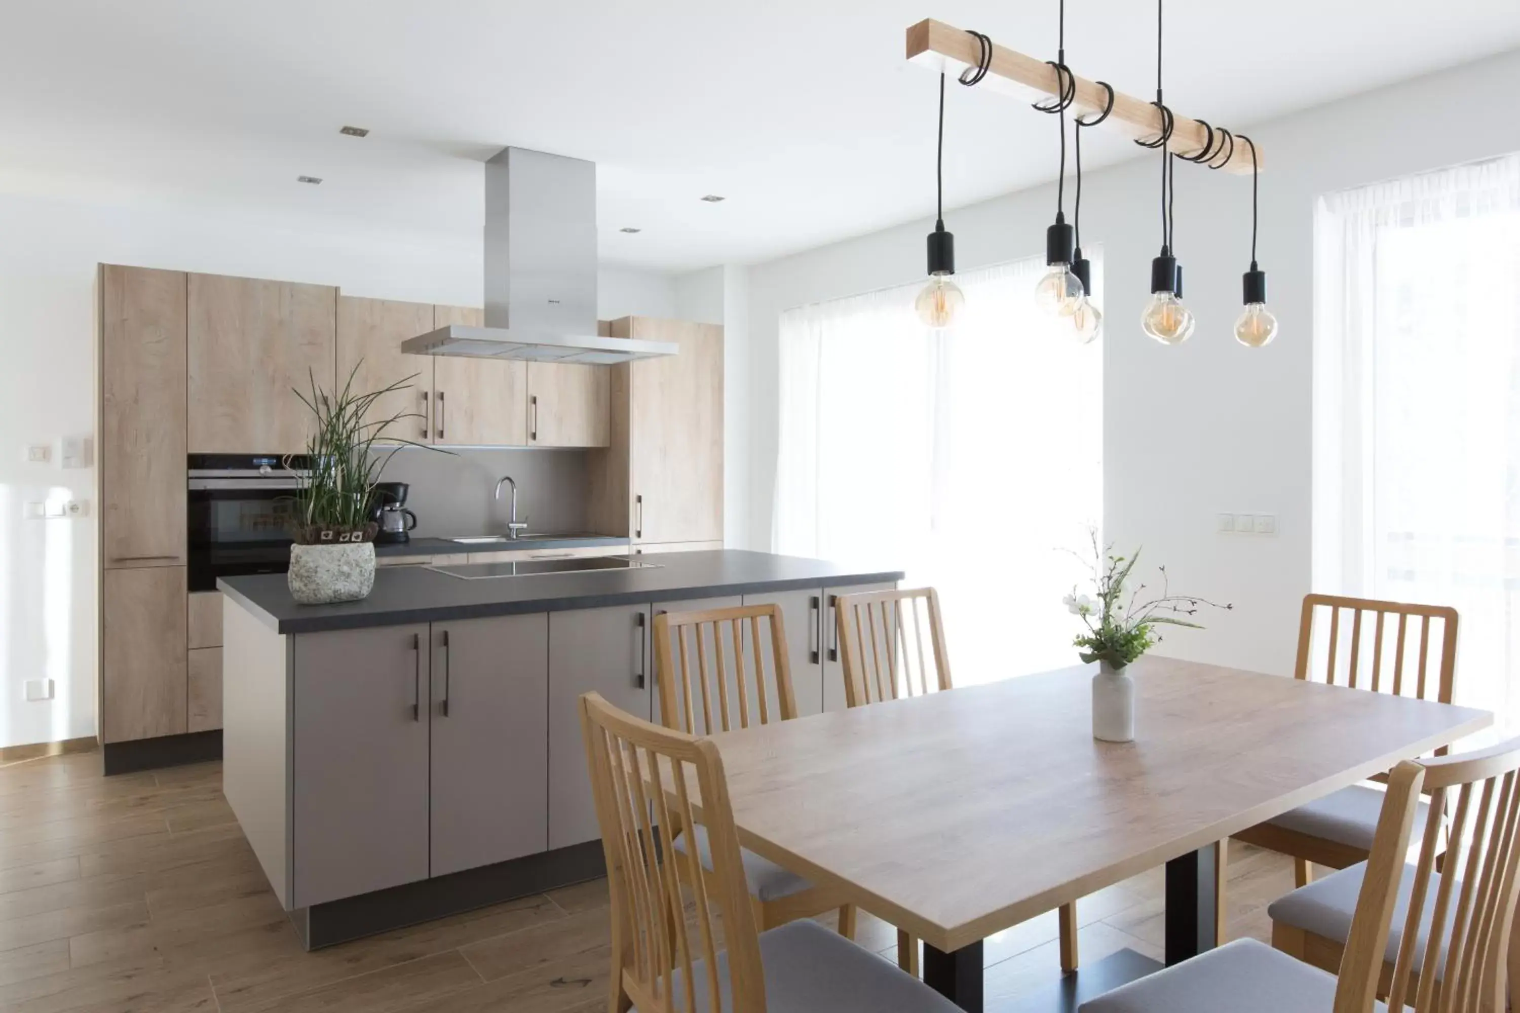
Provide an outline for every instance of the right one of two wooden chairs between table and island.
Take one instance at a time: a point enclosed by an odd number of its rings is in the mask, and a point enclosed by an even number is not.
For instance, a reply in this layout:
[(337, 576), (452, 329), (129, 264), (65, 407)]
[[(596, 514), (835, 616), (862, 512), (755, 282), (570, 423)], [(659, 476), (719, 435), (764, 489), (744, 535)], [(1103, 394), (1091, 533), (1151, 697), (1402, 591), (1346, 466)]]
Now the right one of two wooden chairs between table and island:
[[(939, 594), (933, 588), (842, 594), (834, 614), (850, 706), (953, 686)], [(1076, 970), (1076, 905), (1062, 904), (1056, 917), (1066, 974)], [(897, 929), (897, 966), (914, 975), (920, 972), (918, 940), (903, 929)]]

